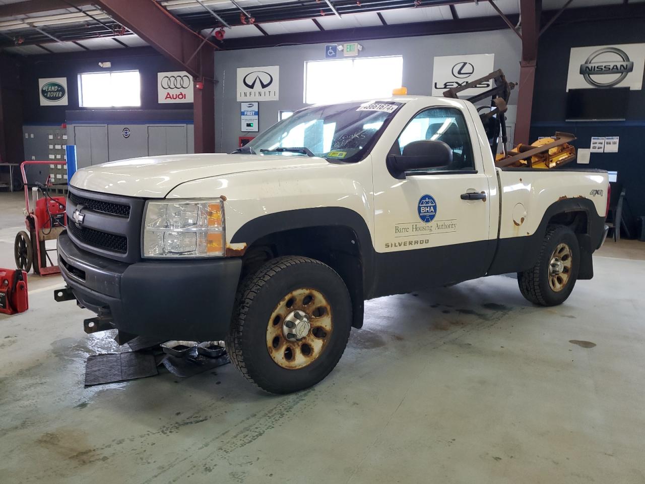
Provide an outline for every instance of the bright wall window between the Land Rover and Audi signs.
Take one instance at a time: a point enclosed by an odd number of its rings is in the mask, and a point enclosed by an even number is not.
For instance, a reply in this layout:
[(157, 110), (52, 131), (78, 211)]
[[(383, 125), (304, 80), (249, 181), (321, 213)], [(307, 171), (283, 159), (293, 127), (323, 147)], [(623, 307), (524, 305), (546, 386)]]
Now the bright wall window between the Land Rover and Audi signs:
[(79, 104), (84, 108), (141, 106), (139, 71), (79, 74)]

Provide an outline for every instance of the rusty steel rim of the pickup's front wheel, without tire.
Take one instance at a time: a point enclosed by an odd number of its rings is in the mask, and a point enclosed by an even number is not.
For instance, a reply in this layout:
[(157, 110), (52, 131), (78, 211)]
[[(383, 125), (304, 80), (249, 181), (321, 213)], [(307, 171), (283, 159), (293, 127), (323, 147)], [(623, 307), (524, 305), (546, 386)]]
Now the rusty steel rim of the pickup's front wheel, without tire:
[(323, 354), (332, 337), (333, 315), (323, 294), (300, 288), (275, 306), (266, 327), (266, 348), (288, 370), (306, 367)]

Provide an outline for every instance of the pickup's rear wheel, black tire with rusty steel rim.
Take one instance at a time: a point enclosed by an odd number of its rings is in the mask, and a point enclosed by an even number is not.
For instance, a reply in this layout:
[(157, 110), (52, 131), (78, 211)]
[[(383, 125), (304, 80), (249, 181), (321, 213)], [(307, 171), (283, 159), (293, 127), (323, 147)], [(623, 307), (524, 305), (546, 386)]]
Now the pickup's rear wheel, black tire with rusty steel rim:
[(579, 267), (580, 247), (573, 230), (564, 225), (550, 225), (537, 262), (529, 270), (517, 273), (517, 283), (522, 296), (531, 303), (557, 306), (571, 294)]

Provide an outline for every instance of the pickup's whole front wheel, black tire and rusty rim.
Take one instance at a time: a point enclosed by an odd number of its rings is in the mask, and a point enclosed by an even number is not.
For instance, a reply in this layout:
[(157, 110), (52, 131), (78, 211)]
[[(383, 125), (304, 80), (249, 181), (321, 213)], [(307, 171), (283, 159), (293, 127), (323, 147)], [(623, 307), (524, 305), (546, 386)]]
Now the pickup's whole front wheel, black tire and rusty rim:
[(246, 379), (287, 394), (333, 370), (351, 328), (352, 303), (341, 276), (315, 259), (279, 257), (239, 288), (226, 349)]

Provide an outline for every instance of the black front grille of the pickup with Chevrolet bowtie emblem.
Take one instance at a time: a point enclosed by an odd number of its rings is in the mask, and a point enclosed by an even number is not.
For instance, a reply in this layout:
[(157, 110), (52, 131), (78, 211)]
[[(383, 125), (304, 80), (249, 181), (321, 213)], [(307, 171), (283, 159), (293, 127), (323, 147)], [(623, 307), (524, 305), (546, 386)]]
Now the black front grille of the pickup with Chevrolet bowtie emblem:
[[(66, 207), (67, 233), (87, 252), (117, 261), (134, 263), (141, 259), (143, 198), (89, 192), (70, 186)], [(77, 217), (77, 207), (84, 217)], [(77, 214), (79, 215), (79, 214)]]

